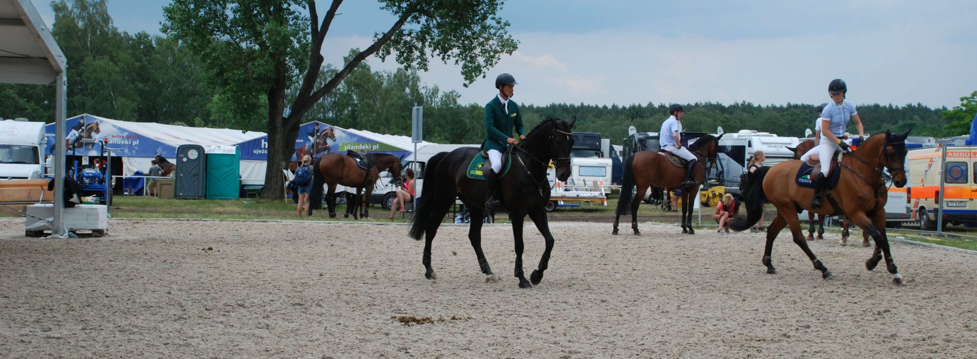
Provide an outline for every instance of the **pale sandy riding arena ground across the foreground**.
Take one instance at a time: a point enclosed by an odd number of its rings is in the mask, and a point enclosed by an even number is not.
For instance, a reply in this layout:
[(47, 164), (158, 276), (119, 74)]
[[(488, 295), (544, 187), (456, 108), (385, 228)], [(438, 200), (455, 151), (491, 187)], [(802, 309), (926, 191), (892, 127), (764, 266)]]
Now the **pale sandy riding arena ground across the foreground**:
[[(111, 219), (105, 238), (25, 238), (0, 219), (4, 358), (965, 358), (977, 355), (977, 255), (893, 243), (906, 287), (871, 249), (782, 233), (553, 222), (542, 283), (512, 277), (512, 231), (488, 225), (486, 283), (467, 226), (434, 243), (404, 224)], [(627, 230), (627, 229), (625, 229)], [(527, 275), (542, 237), (526, 229)], [(853, 240), (856, 244), (859, 242)], [(408, 321), (407, 325), (402, 320)], [(411, 324), (412, 323), (412, 324)]]

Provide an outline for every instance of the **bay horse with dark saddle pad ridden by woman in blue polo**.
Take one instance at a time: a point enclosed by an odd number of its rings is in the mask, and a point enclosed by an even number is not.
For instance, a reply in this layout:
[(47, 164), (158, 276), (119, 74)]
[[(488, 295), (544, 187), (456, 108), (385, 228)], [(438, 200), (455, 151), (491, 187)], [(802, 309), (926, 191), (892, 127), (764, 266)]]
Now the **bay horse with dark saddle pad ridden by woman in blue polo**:
[[(730, 227), (737, 231), (749, 228), (763, 215), (763, 202), (769, 200), (777, 207), (777, 218), (767, 228), (767, 245), (763, 252), (763, 264), (767, 273), (775, 274), (773, 260), (770, 258), (774, 240), (785, 226), (790, 226), (793, 241), (807, 255), (814, 268), (821, 271), (822, 278), (833, 277), (825, 263), (815, 257), (804, 240), (800, 221), (793, 216), (798, 209), (805, 209), (824, 216), (846, 215), (856, 225), (867, 231), (875, 240), (875, 250), (866, 260), (866, 268), (872, 270), (885, 256), (885, 264), (892, 274), (892, 282), (903, 285), (903, 276), (896, 268), (896, 262), (889, 252), (889, 239), (885, 234), (885, 202), (888, 192), (885, 188), (884, 170), (892, 174), (892, 183), (897, 187), (906, 185), (906, 138), (909, 131), (901, 135), (872, 135), (855, 151), (842, 156), (839, 166), (832, 171), (841, 171), (834, 188), (824, 192), (827, 204), (817, 210), (811, 208), (814, 190), (798, 186), (792, 179), (800, 168), (800, 161), (786, 161), (774, 167), (764, 167), (753, 173), (753, 178), (745, 188), (747, 216), (733, 219)], [(821, 159), (822, 161), (828, 159)], [(787, 180), (785, 180), (787, 179)]]

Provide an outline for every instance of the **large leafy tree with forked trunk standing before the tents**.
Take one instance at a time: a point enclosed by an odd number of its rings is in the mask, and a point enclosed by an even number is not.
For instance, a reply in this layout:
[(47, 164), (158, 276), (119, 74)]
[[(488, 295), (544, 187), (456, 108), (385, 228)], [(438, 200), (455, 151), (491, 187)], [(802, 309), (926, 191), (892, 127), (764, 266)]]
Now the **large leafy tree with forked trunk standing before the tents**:
[[(265, 96), (269, 151), (263, 198), (281, 198), (278, 174), (292, 154), (302, 118), (366, 58), (393, 56), (420, 70), (428, 68), (432, 56), (454, 60), (467, 86), (501, 54), (516, 50), (506, 32), (509, 23), (496, 16), (502, 0), (380, 3), (397, 20), (321, 85), (322, 42), (342, 0), (333, 0), (321, 21), (314, 0), (174, 0), (163, 9), (162, 31), (200, 54), (226, 100), (246, 105)], [(286, 106), (286, 90), (296, 83), (298, 91)]]

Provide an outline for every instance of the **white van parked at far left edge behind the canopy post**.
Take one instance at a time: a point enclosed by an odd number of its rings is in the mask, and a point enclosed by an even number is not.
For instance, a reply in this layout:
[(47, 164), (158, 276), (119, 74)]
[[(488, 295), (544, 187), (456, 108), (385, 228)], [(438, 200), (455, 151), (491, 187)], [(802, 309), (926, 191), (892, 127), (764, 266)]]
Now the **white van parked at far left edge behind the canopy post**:
[(44, 123), (0, 121), (0, 180), (37, 180), (44, 175)]

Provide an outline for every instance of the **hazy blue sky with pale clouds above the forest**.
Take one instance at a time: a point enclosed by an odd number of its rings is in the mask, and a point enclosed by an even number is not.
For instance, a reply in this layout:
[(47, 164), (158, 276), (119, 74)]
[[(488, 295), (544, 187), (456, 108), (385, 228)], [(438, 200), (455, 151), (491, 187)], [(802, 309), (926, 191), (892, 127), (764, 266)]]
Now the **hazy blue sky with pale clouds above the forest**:
[[(48, 23), (48, 0), (32, 0)], [(160, 34), (167, 0), (109, 0), (122, 31)], [(319, 0), (319, 14), (328, 1)], [(373, 0), (347, 0), (323, 45), (341, 67), (351, 48), (395, 18)], [(515, 76), (519, 103), (754, 104), (828, 101), (841, 78), (854, 103), (953, 107), (977, 91), (977, 1), (507, 1), (499, 15), (519, 50), (463, 87), (460, 66), (432, 60), (421, 79), (462, 103), (497, 94)], [(367, 60), (374, 70), (399, 67)]]

